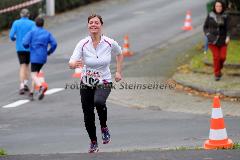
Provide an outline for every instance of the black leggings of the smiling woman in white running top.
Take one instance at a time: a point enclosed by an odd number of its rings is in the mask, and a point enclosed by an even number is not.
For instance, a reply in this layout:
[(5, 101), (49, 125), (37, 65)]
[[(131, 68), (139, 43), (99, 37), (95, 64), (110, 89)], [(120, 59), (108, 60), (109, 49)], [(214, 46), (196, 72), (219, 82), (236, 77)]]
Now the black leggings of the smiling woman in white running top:
[(107, 127), (106, 100), (111, 92), (110, 87), (88, 87), (82, 85), (80, 89), (85, 127), (91, 141), (97, 141), (95, 113), (96, 107), (101, 128)]

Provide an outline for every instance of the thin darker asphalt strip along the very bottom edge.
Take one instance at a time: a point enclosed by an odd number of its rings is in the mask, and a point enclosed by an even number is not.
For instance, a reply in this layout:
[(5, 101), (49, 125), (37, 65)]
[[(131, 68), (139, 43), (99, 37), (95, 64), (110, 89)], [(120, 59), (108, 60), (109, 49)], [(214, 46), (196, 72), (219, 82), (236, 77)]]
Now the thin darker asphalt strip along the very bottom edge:
[(51, 154), (51, 155), (16, 155), (2, 157), (1, 160), (238, 160), (239, 151), (135, 151), (121, 153), (98, 153), (98, 154)]

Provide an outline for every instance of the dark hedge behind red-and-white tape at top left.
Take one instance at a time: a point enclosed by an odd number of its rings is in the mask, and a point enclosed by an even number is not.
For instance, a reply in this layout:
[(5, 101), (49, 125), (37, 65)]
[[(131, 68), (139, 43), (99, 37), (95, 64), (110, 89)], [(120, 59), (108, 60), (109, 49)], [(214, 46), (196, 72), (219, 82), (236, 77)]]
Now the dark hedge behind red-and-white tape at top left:
[[(11, 7), (26, 1), (29, 0), (0, 0), (0, 9)], [(95, 1), (100, 0), (55, 0), (55, 11), (56, 13), (60, 13)], [(41, 10), (45, 10), (45, 4), (45, 0), (43, 0), (42, 2), (27, 7), (31, 13), (30, 19), (35, 19)], [(13, 21), (20, 18), (20, 10), (21, 9), (0, 14), (0, 30), (10, 28)]]

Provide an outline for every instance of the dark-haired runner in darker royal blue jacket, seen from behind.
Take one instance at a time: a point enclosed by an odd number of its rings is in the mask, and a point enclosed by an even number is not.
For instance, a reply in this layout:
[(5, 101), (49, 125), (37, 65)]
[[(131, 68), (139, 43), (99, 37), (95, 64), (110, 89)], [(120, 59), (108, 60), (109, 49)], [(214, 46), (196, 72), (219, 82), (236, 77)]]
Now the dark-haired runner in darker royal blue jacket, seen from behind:
[[(33, 93), (35, 84), (41, 86), (39, 89), (38, 99), (44, 97), (47, 88), (39, 84), (37, 74), (40, 72), (43, 65), (47, 62), (47, 56), (52, 54), (57, 48), (57, 42), (52, 34), (43, 28), (43, 18), (36, 18), (36, 28), (30, 31), (23, 39), (23, 46), (30, 48), (30, 62), (31, 62), (31, 75), (32, 75), (32, 89), (29, 94), (30, 99), (33, 100)], [(50, 49), (48, 50), (48, 45)]]

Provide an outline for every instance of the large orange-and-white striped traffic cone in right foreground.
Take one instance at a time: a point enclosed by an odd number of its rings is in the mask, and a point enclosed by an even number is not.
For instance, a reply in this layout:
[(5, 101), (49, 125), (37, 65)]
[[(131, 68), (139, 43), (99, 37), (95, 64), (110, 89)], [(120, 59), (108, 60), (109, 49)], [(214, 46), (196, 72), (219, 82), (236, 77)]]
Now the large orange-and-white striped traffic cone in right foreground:
[(228, 149), (232, 147), (233, 142), (228, 138), (227, 130), (224, 125), (220, 100), (218, 96), (215, 96), (213, 99), (209, 140), (204, 142), (204, 149)]

